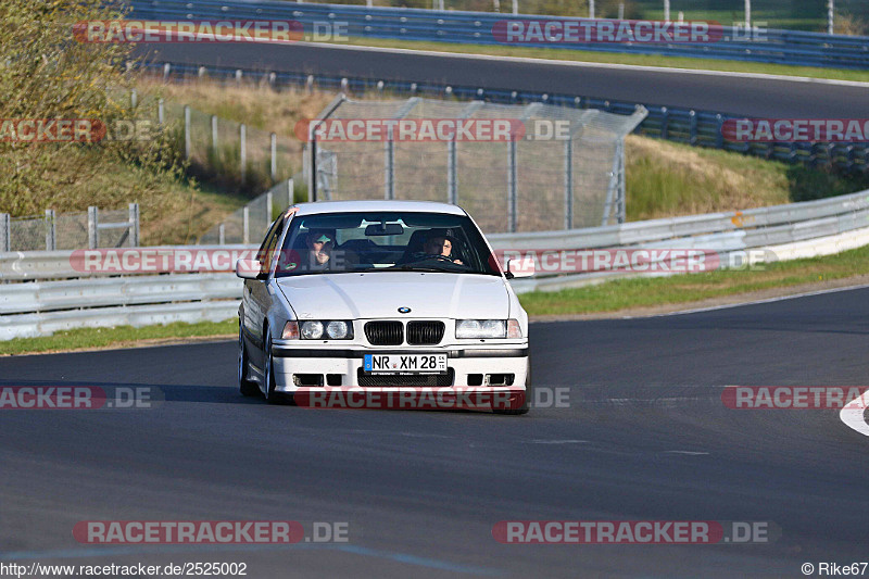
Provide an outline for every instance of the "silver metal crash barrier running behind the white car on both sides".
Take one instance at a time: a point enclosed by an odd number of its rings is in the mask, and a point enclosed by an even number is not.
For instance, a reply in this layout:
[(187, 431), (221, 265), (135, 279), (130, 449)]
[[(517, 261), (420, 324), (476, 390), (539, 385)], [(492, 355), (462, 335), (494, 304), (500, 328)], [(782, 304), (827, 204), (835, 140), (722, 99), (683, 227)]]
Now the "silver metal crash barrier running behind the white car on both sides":
[[(869, 242), (869, 191), (833, 199), (671, 219), (637, 222), (576, 231), (489, 236), (496, 250), (704, 249), (725, 256), (764, 248), (781, 256), (831, 253)], [(813, 253), (806, 240), (819, 240)], [(149, 248), (142, 248), (149, 249)], [(218, 248), (162, 248), (209, 251)], [(226, 250), (226, 247), (219, 249)], [(234, 249), (255, 250), (235, 246)], [(88, 277), (71, 265), (73, 252), (0, 254), (0, 340), (75, 327), (143, 326), (171, 322), (219, 322), (238, 310), (242, 284), (231, 273)], [(625, 272), (595, 272), (517, 279), (517, 292), (557, 290)], [(628, 275), (637, 275), (631, 273)], [(78, 276), (80, 279), (47, 281)], [(33, 281), (41, 279), (46, 281)], [(14, 282), (14, 281), (23, 282)]]

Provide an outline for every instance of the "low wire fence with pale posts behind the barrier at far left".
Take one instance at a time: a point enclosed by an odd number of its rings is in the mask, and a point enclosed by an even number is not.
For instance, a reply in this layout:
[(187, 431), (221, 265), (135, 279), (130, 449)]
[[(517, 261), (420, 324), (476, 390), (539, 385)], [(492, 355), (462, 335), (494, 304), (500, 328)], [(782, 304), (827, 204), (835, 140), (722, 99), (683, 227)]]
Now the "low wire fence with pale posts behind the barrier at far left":
[(0, 213), (0, 252), (119, 248), (139, 244), (139, 205), (87, 213), (12, 217)]

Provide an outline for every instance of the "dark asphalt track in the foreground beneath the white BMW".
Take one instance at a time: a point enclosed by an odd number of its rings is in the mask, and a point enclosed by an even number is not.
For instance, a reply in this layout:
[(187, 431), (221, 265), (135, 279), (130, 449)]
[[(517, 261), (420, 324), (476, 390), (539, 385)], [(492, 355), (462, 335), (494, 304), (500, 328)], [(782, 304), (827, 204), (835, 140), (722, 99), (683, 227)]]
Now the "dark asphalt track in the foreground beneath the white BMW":
[[(869, 438), (725, 385), (867, 385), (869, 290), (533, 324), (569, 407), (314, 411), (245, 399), (236, 343), (0, 358), (0, 385), (156, 387), (150, 410), (0, 411), (0, 562), (245, 562), (248, 577), (802, 577), (869, 558)], [(81, 520), (348, 521), (343, 544), (86, 545)], [(501, 520), (766, 521), (767, 544), (507, 545)]]

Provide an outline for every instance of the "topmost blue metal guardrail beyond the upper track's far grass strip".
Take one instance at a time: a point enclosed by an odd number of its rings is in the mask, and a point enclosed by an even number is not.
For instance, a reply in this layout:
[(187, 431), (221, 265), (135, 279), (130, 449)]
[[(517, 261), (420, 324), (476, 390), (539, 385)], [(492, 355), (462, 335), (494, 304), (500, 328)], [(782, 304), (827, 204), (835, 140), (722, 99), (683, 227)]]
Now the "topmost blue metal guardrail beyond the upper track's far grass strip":
[[(539, 15), (487, 12), (432, 11), (408, 8), (353, 7), (275, 1), (134, 0), (136, 17), (152, 20), (286, 18), (301, 22), (305, 30), (315, 23), (342, 23), (351, 37), (388, 38), (470, 45), (504, 45), (492, 33), (498, 22), (527, 21)], [(547, 20), (582, 21), (564, 16)], [(529, 47), (591, 50), (631, 54), (725, 59), (801, 66), (869, 68), (869, 37), (795, 30), (746, 30), (723, 26), (722, 39), (709, 43), (522, 43)]]

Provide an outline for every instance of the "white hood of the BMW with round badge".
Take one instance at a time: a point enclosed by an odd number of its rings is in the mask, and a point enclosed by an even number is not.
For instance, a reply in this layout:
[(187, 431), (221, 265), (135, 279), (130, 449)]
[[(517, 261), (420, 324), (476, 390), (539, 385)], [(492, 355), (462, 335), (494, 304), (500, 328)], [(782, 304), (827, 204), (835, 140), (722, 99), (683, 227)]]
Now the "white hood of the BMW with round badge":
[(506, 319), (509, 298), (496, 276), (419, 272), (317, 274), (277, 279), (299, 319)]

